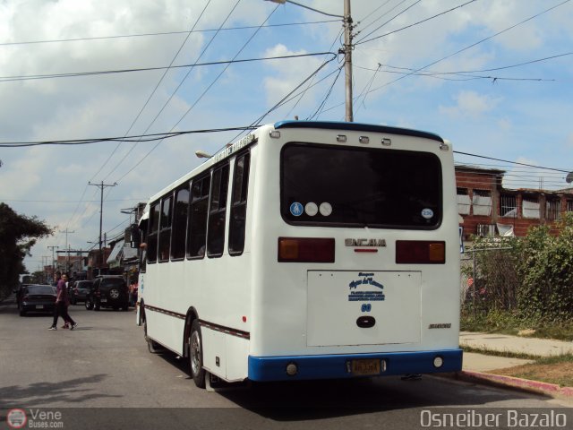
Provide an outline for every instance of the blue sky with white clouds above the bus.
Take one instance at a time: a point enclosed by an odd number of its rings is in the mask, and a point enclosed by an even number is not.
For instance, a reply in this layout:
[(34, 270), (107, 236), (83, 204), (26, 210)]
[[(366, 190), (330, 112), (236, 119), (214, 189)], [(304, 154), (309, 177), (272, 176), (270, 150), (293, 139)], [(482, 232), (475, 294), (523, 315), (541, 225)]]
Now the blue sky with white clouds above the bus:
[[(51, 260), (48, 246), (98, 246), (101, 185), (109, 240), (125, 210), (201, 164), (196, 150), (242, 132), (131, 136), (344, 121), (344, 1), (296, 3), (321, 13), (263, 0), (0, 0), (0, 202), (55, 229), (28, 270)], [(351, 16), (355, 122), (438, 133), (458, 164), (506, 170), (509, 188), (569, 186), (573, 1), (351, 0)], [(46, 143), (65, 141), (95, 142)]]

